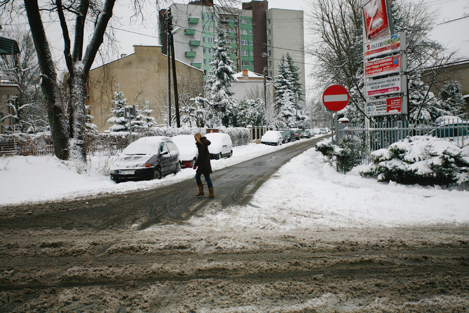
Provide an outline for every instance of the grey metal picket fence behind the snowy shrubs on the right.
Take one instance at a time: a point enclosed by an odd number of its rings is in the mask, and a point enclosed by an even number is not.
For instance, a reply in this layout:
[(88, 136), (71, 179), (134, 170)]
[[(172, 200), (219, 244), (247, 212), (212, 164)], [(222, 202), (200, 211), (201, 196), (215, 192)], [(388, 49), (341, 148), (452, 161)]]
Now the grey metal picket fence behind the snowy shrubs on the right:
[(469, 121), (460, 118), (440, 118), (436, 122), (407, 121), (377, 122), (365, 127), (362, 124), (338, 124), (337, 140), (351, 137), (362, 143), (366, 151), (362, 163), (370, 161), (369, 154), (387, 148), (408, 136), (429, 135), (451, 141), (458, 147), (469, 144)]

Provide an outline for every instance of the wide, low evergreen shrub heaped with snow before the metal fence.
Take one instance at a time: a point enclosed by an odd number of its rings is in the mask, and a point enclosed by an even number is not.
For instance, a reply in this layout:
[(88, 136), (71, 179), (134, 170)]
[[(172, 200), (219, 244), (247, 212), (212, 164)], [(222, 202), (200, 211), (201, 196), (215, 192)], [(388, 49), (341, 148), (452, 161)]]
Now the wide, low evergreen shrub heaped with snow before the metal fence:
[(422, 185), (469, 182), (469, 146), (459, 148), (448, 140), (414, 136), (371, 153), (372, 164), (357, 166), (364, 176), (379, 181)]

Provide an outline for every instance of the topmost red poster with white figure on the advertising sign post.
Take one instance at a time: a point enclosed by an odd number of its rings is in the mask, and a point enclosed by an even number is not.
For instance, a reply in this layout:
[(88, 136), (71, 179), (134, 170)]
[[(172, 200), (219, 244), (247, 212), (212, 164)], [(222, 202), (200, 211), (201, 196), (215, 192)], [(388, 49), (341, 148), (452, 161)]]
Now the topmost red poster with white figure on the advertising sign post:
[(363, 4), (363, 21), (367, 41), (391, 34), (387, 15), (386, 0), (370, 0)]

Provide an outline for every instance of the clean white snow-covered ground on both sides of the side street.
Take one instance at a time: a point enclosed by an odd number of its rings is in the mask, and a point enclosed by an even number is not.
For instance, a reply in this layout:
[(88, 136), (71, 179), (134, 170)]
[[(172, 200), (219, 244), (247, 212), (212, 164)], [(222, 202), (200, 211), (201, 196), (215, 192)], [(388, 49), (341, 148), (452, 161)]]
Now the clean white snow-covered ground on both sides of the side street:
[[(292, 144), (295, 143), (288, 145)], [(233, 157), (213, 160), (212, 166), (214, 170), (220, 169), (284, 147), (261, 144), (235, 147)], [(177, 175), (171, 174), (161, 180), (116, 184), (103, 174), (111, 161), (108, 157), (93, 157), (91, 170), (80, 175), (67, 162), (51, 156), (0, 158), (0, 205), (153, 188), (192, 179), (195, 173), (192, 169), (183, 169)], [(291, 191), (285, 193), (287, 186)], [(469, 223), (468, 201), (468, 191), (380, 183), (375, 179), (339, 174), (312, 148), (280, 168), (256, 192), (252, 205), (193, 218), (191, 224), (225, 230), (281, 231), (312, 225), (460, 224)]]

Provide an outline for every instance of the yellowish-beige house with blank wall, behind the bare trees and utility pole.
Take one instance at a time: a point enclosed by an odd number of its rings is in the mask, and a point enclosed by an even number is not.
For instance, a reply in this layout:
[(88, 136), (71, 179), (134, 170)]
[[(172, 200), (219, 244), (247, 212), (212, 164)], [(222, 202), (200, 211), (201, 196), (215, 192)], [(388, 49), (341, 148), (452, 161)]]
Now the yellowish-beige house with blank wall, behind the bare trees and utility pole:
[[(162, 46), (134, 45), (134, 53), (90, 70), (88, 80), (88, 105), (94, 116), (92, 123), (103, 133), (112, 125), (107, 123), (114, 99), (116, 85), (128, 99), (128, 105), (138, 104), (143, 109), (148, 101), (154, 110), (151, 116), (157, 125), (164, 125), (167, 116), (168, 72), (167, 56)], [(185, 98), (202, 93), (204, 72), (196, 67), (176, 60), (178, 94)], [(172, 83), (172, 72), (171, 72)], [(171, 103), (174, 106), (171, 84)], [(171, 113), (174, 116), (174, 109)]]

